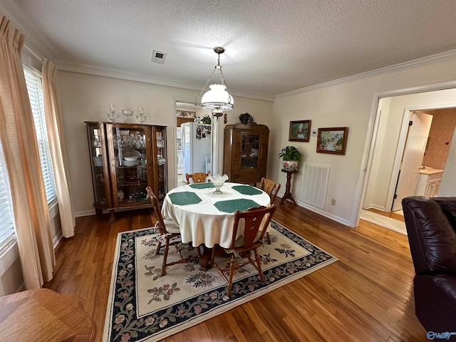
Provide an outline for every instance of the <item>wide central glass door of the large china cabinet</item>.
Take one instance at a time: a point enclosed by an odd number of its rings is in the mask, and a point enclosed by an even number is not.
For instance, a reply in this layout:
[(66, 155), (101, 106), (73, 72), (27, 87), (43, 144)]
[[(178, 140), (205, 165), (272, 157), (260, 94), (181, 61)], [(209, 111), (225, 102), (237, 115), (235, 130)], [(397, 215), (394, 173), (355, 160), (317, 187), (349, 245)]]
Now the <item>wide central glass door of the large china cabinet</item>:
[(114, 207), (147, 204), (150, 127), (108, 124), (107, 130)]

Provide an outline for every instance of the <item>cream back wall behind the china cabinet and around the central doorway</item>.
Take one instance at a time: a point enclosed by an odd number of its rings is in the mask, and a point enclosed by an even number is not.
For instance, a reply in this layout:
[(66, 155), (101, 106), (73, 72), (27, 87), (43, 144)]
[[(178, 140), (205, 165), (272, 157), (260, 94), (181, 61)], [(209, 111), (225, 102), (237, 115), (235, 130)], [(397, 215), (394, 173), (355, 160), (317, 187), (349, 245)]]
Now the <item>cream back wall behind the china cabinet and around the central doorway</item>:
[[(105, 121), (110, 103), (115, 104), (116, 111), (138, 110), (138, 106), (142, 105), (147, 123), (167, 126), (168, 185), (170, 189), (176, 186), (175, 98), (195, 99), (198, 94), (196, 90), (66, 71), (58, 72), (58, 81), (76, 216), (94, 213), (88, 140), (84, 121)], [(271, 125), (272, 103), (270, 101), (236, 96), (234, 101), (235, 109), (227, 112), (228, 123), (239, 122), (239, 115), (248, 112), (258, 123)], [(119, 121), (123, 120), (125, 118), (119, 119)], [(219, 125), (220, 131), (223, 132), (223, 117), (219, 120)], [(222, 152), (223, 136), (219, 144), (219, 153)], [(220, 167), (219, 170), (222, 168)]]

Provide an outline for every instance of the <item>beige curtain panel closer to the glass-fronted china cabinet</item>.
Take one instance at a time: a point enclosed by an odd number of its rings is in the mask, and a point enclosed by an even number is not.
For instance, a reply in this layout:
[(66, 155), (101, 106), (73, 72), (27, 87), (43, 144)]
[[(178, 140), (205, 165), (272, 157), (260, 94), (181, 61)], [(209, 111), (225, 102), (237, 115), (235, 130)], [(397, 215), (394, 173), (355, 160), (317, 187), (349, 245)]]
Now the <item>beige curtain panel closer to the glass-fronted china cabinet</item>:
[(54, 178), (56, 180), (58, 212), (60, 214), (63, 237), (73, 237), (76, 225), (73, 195), (71, 193), (68, 158), (66, 157), (66, 142), (63, 134), (63, 117), (58, 101), (56, 73), (56, 65), (45, 58), (41, 72), (43, 77), (44, 112), (46, 113), (46, 129), (51, 149)]

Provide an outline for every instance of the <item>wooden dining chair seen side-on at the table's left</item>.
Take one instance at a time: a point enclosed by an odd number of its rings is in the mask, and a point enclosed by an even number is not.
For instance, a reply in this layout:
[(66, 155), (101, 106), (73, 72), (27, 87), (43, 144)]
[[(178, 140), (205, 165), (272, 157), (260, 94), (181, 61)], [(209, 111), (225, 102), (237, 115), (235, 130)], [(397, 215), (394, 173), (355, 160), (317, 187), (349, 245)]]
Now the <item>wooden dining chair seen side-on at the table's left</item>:
[[(160, 204), (158, 203), (158, 199), (155, 196), (154, 192), (150, 187), (146, 188), (147, 194), (149, 195), (150, 202), (152, 202), (152, 206), (154, 207), (155, 214), (157, 215), (157, 224), (158, 230), (160, 232), (160, 237), (158, 238), (158, 245), (157, 249), (155, 250), (155, 255), (160, 253), (160, 248), (162, 247), (162, 242), (165, 242), (165, 249), (163, 251), (163, 264), (162, 264), (162, 273), (161, 276), (166, 274), (167, 266), (172, 266), (175, 264), (182, 264), (184, 262), (192, 261), (197, 259), (200, 256), (199, 248), (197, 247), (197, 255), (195, 257), (190, 256), (184, 258), (182, 256), (182, 252), (179, 249), (180, 240), (171, 242), (170, 240), (175, 237), (180, 237), (180, 229), (177, 224), (175, 224), (172, 219), (170, 218), (163, 218), (162, 212), (160, 210)], [(177, 254), (179, 254), (180, 259), (177, 261), (167, 262), (168, 252), (170, 250), (170, 246), (174, 245), (176, 247)]]

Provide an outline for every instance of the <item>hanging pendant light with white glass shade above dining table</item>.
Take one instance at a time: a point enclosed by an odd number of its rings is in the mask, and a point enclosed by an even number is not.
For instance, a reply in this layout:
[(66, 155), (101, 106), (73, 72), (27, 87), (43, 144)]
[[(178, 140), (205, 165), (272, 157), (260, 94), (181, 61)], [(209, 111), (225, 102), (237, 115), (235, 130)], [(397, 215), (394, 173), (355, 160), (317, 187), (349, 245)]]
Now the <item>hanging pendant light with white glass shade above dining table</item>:
[[(217, 47), (214, 48), (214, 52), (219, 55), (217, 66), (215, 66), (214, 70), (212, 71), (211, 75), (207, 79), (204, 88), (199, 92), (196, 100), (195, 105), (200, 105), (202, 108), (207, 110), (212, 110), (212, 115), (215, 117), (219, 117), (222, 115), (222, 112), (227, 110), (233, 110), (234, 100), (232, 95), (229, 95), (227, 91), (227, 82), (223, 76), (222, 66), (220, 65), (220, 54), (225, 52), (224, 48)], [(201, 98), (201, 103), (198, 103), (198, 98), (207, 88), (209, 81), (211, 81), (212, 75), (214, 72), (218, 70), (220, 72), (220, 78), (222, 80), (222, 84), (212, 84), (209, 86), (210, 90), (204, 93)]]

